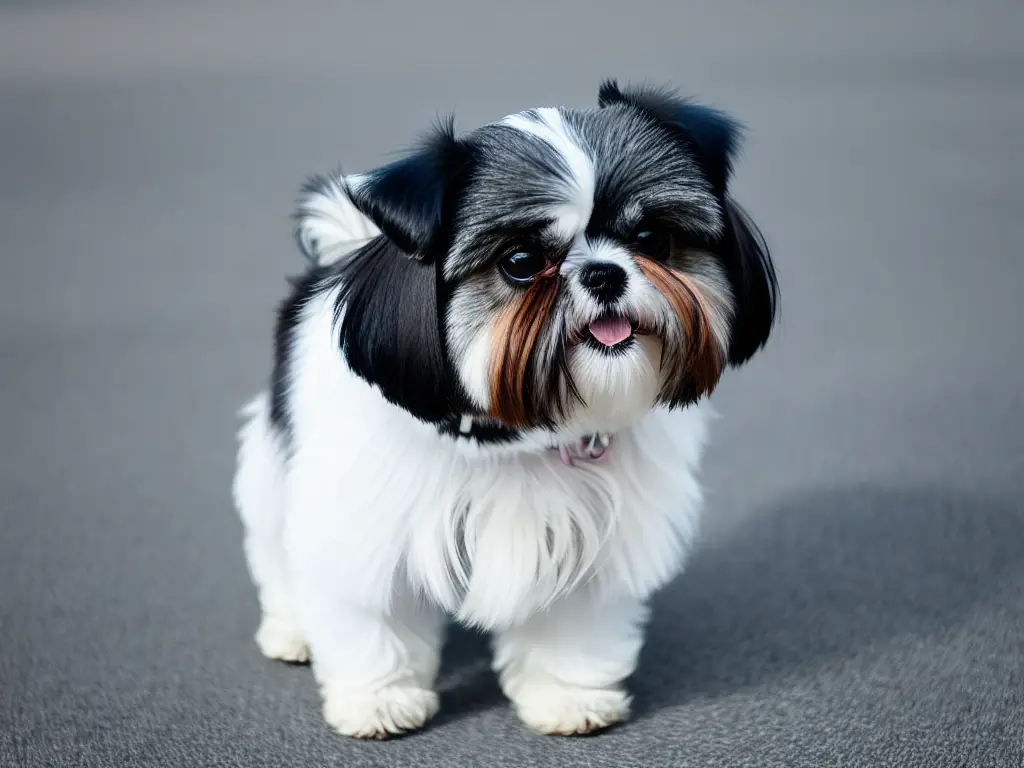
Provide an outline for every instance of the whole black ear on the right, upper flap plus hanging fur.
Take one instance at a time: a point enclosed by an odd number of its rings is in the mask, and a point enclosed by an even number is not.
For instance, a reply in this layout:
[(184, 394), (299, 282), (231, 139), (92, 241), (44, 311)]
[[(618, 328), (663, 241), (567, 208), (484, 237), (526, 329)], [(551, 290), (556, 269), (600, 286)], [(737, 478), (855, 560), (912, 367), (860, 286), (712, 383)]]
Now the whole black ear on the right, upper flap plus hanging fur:
[(598, 92), (598, 104), (628, 104), (641, 110), (679, 131), (697, 159), (722, 201), (725, 227), (719, 255), (723, 261), (735, 302), (729, 362), (739, 366), (768, 340), (778, 304), (775, 267), (764, 238), (750, 216), (728, 194), (732, 162), (739, 147), (739, 123), (711, 106), (680, 98), (657, 88), (623, 90), (606, 80)]

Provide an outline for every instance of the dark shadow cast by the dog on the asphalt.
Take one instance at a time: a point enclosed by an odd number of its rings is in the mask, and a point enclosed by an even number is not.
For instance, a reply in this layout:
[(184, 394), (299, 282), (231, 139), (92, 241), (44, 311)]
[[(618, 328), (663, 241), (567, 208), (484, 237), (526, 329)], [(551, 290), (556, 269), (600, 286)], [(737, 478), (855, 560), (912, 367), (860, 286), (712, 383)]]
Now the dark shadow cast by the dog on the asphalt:
[[(1024, 571), (1024, 515), (983, 499), (847, 488), (761, 511), (698, 547), (653, 601), (630, 683), (644, 713), (814, 669), (968, 613)], [(502, 701), (484, 636), (453, 629), (445, 719)]]

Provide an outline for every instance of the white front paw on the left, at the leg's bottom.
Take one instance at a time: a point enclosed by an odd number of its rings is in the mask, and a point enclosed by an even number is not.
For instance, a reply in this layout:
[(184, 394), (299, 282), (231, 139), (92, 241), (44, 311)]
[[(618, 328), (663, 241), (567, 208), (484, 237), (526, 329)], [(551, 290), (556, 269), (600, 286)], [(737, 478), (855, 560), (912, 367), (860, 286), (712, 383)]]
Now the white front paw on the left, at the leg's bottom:
[(356, 738), (387, 738), (414, 731), (435, 714), (437, 694), (414, 685), (324, 693), (327, 722), (339, 733)]

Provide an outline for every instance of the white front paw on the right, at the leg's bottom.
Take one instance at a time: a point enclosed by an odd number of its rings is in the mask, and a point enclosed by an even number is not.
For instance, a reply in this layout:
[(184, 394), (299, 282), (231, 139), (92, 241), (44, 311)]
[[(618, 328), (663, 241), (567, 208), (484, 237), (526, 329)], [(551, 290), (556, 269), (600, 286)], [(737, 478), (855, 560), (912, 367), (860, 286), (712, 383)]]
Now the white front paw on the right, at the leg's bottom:
[(578, 688), (545, 681), (523, 683), (513, 703), (519, 719), (534, 730), (569, 736), (625, 720), (631, 700), (622, 688)]

